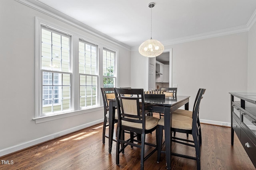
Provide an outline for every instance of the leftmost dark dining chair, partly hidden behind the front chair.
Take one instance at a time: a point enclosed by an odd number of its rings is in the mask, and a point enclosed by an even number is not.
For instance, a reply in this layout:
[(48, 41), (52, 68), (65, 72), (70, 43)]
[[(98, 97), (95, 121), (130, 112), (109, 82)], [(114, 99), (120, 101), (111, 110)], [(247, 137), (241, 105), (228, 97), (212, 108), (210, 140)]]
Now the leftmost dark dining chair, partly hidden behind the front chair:
[[(114, 99), (115, 94), (114, 94), (114, 88), (101, 88), (102, 92), (102, 98), (103, 98), (103, 104), (104, 104), (104, 122), (103, 122), (103, 134), (102, 134), (102, 143), (105, 144), (105, 137), (109, 139), (109, 136), (106, 136), (106, 127), (109, 126), (107, 124), (107, 121), (109, 119), (109, 101), (108, 99)], [(118, 121), (118, 114), (117, 110), (115, 110), (115, 119), (113, 120), (113, 123), (117, 123)], [(116, 141), (112, 139), (113, 141)]]

